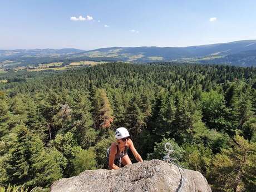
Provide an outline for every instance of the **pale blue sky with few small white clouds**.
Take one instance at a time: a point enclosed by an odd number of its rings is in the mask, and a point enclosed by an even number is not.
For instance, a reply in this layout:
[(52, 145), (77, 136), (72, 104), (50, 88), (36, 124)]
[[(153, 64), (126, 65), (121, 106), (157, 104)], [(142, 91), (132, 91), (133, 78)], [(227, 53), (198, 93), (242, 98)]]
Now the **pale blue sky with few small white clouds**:
[(255, 11), (255, 0), (1, 0), (0, 49), (181, 47), (252, 40)]

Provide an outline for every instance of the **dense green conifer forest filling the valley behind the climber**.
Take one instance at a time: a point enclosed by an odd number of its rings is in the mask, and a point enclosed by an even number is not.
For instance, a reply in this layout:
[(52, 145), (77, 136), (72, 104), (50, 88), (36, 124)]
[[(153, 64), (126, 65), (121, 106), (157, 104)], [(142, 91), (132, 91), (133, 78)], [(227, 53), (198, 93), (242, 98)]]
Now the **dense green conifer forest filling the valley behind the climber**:
[(144, 160), (162, 159), (171, 142), (213, 191), (256, 191), (256, 68), (107, 63), (21, 77), (0, 86), (2, 188), (48, 191), (106, 168), (124, 126)]

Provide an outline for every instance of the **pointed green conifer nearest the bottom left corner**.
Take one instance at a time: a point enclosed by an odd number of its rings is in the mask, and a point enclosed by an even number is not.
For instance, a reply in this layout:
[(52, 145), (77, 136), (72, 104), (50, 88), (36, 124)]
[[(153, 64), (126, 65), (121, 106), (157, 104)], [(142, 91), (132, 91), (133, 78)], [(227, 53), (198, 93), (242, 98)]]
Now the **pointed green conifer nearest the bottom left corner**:
[(26, 126), (19, 125), (16, 128), (16, 137), (12, 141), (9, 157), (6, 160), (6, 173), (8, 183), (22, 185), (33, 184), (36, 176), (32, 165), (43, 151), (43, 144), (40, 138), (29, 132)]

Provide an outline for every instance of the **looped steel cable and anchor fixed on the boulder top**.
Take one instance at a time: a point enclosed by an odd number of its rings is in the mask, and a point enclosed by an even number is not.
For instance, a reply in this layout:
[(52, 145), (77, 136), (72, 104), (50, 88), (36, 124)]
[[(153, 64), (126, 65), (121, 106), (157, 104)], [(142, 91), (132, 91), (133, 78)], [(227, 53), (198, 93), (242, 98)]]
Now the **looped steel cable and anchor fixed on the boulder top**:
[[(170, 154), (174, 152), (173, 150), (173, 145), (170, 144), (170, 142), (166, 142), (166, 144), (164, 145), (165, 150), (168, 152), (167, 155), (165, 155), (163, 157), (163, 160), (166, 161), (166, 163), (170, 163), (170, 164), (174, 164), (178, 167), (179, 172), (180, 172), (180, 185), (179, 188), (176, 190), (176, 192), (181, 192), (183, 189), (183, 186), (185, 184), (186, 181), (186, 177), (185, 177), (185, 171), (183, 168), (181, 168), (181, 166), (179, 166), (178, 164), (174, 163), (173, 161), (175, 161), (175, 158), (170, 157)], [(181, 174), (181, 170), (183, 170), (183, 175)]]

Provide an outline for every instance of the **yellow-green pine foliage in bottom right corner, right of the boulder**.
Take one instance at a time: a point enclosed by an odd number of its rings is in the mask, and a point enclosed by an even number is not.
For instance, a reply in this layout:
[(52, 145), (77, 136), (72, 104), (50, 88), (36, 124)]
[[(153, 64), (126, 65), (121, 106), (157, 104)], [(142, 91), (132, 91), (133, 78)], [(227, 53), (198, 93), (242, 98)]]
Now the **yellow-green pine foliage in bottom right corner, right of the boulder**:
[(234, 147), (224, 149), (213, 159), (209, 172), (213, 191), (254, 191), (256, 185), (256, 145), (234, 137)]

